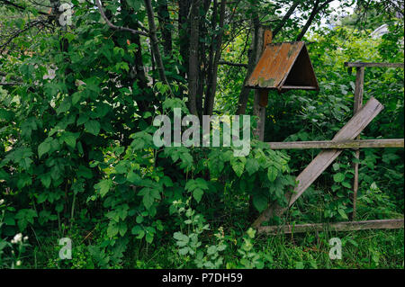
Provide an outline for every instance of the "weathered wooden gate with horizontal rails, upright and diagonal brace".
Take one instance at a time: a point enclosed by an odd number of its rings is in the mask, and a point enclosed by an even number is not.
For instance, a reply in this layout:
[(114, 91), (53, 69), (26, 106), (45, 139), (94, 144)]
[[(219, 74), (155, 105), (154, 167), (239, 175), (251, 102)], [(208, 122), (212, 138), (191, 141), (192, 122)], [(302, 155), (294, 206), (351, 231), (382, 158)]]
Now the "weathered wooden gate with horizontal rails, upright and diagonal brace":
[[(356, 158), (359, 158), (360, 148), (403, 148), (404, 139), (360, 139), (360, 132), (373, 121), (375, 116), (383, 110), (383, 104), (379, 103), (375, 98), (371, 98), (363, 106), (363, 90), (365, 67), (404, 67), (403, 63), (345, 63), (346, 67), (351, 69), (356, 67), (356, 89), (355, 89), (355, 106), (354, 116), (347, 124), (338, 131), (332, 140), (328, 141), (296, 141), (296, 142), (268, 142), (271, 148), (274, 149), (290, 149), (290, 148), (321, 148), (324, 149), (315, 157), (309, 166), (307, 166), (296, 181), (298, 185), (294, 188), (293, 193), (286, 193), (288, 207), (282, 208), (278, 204), (271, 204), (266, 211), (263, 211), (257, 220), (253, 223), (253, 227), (258, 232), (266, 232), (268, 234), (276, 233), (291, 233), (291, 232), (306, 232), (310, 230), (322, 230), (326, 224), (299, 224), (286, 226), (262, 226), (262, 223), (270, 220), (274, 215), (280, 216), (304, 193), (308, 187), (325, 171), (330, 164), (338, 157), (343, 149), (355, 149)], [(261, 119), (264, 120), (264, 119)], [(264, 129), (264, 122), (261, 125)], [(263, 130), (259, 130), (258, 134), (263, 135)], [(343, 230), (359, 230), (359, 229), (400, 229), (404, 226), (404, 220), (356, 220), (356, 197), (358, 191), (358, 163), (354, 163), (355, 178), (353, 183), (353, 213), (351, 214), (352, 221), (330, 223), (329, 228), (337, 231)]]

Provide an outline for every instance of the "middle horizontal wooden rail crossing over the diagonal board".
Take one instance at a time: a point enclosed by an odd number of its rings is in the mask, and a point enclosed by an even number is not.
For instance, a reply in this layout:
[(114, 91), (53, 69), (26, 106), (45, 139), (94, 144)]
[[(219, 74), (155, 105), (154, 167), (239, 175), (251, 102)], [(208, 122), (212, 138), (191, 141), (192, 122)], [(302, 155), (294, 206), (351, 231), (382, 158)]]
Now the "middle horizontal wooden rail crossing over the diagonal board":
[(403, 148), (404, 139), (354, 139), (343, 141), (282, 141), (266, 142), (272, 149), (308, 149), (308, 148)]

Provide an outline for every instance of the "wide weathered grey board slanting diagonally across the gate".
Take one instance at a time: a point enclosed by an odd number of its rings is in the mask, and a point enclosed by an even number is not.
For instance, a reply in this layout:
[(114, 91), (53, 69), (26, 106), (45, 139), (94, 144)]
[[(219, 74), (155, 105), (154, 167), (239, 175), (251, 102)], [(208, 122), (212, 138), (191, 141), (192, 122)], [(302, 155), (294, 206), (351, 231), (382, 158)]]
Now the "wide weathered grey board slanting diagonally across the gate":
[[(362, 130), (373, 121), (373, 119), (383, 110), (383, 104), (378, 102), (372, 97), (365, 105), (347, 122), (347, 124), (338, 131), (332, 141), (351, 140), (355, 139)], [(325, 169), (340, 155), (342, 149), (329, 149), (322, 150), (320, 154), (315, 157), (310, 165), (308, 165), (300, 175), (297, 176), (297, 186), (294, 188), (293, 193), (286, 193), (285, 197), (289, 199), (289, 206), (293, 205), (303, 192), (322, 174)], [(277, 212), (283, 213), (285, 209), (277, 204), (273, 204), (266, 211), (263, 211), (259, 218), (253, 223), (253, 227), (257, 228), (265, 220)]]

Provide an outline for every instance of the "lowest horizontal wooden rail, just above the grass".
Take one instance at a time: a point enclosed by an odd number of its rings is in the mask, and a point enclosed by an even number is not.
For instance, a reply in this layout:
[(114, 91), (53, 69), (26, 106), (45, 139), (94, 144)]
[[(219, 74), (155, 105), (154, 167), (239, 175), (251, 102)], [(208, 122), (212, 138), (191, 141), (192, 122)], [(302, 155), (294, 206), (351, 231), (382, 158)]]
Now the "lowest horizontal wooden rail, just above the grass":
[(259, 233), (267, 234), (290, 234), (311, 231), (352, 231), (365, 229), (403, 229), (403, 219), (397, 220), (365, 220), (365, 221), (345, 221), (336, 223), (310, 223), (284, 226), (262, 226), (257, 229)]

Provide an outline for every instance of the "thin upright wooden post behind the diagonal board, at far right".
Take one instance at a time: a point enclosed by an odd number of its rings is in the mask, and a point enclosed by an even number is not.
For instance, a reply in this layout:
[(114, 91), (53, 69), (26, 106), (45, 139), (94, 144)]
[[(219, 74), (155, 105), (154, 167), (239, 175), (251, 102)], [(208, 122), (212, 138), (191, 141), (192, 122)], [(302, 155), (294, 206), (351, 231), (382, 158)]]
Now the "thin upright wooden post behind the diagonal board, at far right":
[[(356, 88), (355, 88), (355, 106), (353, 110), (353, 114), (358, 112), (362, 105), (363, 105), (363, 91), (365, 85), (365, 67), (356, 67)], [(357, 137), (360, 139), (360, 136)], [(360, 159), (360, 149), (356, 149), (355, 157), (358, 161)], [(356, 219), (356, 202), (357, 202), (357, 191), (358, 191), (358, 162), (353, 164), (355, 169), (355, 178), (353, 180), (353, 195), (352, 195), (352, 202), (353, 202), (353, 211), (350, 214), (350, 219)]]

